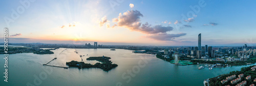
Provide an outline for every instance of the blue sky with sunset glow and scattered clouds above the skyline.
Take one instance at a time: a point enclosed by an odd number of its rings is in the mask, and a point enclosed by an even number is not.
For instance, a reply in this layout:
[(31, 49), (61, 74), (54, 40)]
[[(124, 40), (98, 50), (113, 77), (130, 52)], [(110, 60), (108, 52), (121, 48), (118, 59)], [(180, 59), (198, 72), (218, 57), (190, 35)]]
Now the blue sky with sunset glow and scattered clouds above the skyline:
[[(1, 1), (9, 42), (256, 46), (256, 1)], [(4, 32), (0, 33), (3, 37)]]

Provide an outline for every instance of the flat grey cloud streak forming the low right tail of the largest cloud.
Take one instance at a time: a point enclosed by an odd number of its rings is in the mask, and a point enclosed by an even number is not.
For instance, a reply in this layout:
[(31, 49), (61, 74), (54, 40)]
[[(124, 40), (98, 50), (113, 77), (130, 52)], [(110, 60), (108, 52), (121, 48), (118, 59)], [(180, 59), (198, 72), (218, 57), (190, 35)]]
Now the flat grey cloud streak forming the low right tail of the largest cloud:
[(176, 37), (184, 36), (186, 33), (178, 33), (178, 34), (167, 34), (167, 33), (158, 33), (154, 35), (147, 36), (156, 40), (174, 40)]

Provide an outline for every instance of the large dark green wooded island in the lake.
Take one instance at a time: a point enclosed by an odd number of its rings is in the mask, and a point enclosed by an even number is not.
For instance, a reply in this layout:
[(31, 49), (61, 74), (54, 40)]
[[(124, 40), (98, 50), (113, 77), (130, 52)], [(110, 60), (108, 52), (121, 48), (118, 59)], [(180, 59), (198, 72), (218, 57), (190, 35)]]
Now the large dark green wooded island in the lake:
[[(66, 65), (69, 67), (78, 67), (78, 69), (83, 69), (83, 68), (100, 68), (104, 71), (110, 71), (113, 68), (116, 68), (118, 65), (115, 63), (112, 64), (112, 61), (110, 61), (111, 57), (106, 57), (106, 56), (99, 56), (99, 57), (89, 57), (87, 60), (97, 60), (99, 62), (95, 63), (92, 65), (91, 63), (84, 63), (84, 62), (78, 62), (78, 61), (70, 61), (66, 62)], [(101, 62), (101, 63), (100, 63)]]

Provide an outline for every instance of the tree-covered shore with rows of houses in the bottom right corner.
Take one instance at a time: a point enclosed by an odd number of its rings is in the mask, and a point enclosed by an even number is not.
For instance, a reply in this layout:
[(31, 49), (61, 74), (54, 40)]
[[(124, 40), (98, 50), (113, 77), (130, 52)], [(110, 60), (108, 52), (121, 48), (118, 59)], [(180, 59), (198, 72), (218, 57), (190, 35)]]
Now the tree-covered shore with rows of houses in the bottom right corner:
[(232, 71), (204, 81), (205, 85), (254, 85), (256, 84), (256, 66), (241, 68), (241, 71)]

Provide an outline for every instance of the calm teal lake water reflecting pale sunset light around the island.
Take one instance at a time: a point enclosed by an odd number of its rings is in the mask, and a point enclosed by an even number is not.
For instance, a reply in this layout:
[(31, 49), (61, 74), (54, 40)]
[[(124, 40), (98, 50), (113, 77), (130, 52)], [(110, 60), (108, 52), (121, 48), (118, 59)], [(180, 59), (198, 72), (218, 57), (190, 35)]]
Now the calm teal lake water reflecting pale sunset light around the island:
[[(204, 68), (201, 65), (175, 66), (156, 58), (151, 54), (132, 53), (131, 50), (116, 49), (75, 49), (60, 48), (52, 50), (54, 54), (19, 53), (11, 54), (8, 59), (9, 81), (4, 82), (4, 56), (0, 59), (1, 85), (203, 85), (203, 80), (231, 71), (239, 71), (242, 67)], [(63, 51), (64, 50), (64, 51)], [(88, 55), (87, 55), (88, 54)], [(101, 69), (56, 68), (42, 66), (55, 56), (49, 65), (66, 66), (67, 61), (86, 63), (90, 56), (108, 56), (118, 67), (105, 72)], [(131, 74), (132, 73), (132, 74)]]

